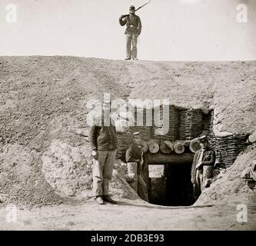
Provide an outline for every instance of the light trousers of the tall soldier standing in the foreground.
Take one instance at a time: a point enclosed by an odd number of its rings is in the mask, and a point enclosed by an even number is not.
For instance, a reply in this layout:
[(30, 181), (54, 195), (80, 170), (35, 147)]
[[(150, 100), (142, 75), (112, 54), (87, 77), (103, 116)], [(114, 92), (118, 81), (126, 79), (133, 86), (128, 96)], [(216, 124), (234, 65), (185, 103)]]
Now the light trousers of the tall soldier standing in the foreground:
[(98, 160), (93, 163), (93, 194), (95, 196), (108, 195), (109, 182), (112, 178), (115, 162), (115, 150), (98, 151)]

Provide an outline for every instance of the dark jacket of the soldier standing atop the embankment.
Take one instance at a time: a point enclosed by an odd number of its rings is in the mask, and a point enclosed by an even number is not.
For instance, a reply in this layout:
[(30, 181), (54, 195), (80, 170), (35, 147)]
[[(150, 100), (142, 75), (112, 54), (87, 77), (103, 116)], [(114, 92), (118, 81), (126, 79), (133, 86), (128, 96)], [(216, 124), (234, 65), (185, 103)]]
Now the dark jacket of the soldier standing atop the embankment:
[(141, 18), (138, 15), (128, 15), (125, 18), (119, 18), (119, 23), (121, 26), (126, 25), (125, 34), (141, 34)]

